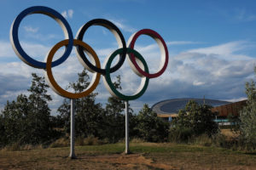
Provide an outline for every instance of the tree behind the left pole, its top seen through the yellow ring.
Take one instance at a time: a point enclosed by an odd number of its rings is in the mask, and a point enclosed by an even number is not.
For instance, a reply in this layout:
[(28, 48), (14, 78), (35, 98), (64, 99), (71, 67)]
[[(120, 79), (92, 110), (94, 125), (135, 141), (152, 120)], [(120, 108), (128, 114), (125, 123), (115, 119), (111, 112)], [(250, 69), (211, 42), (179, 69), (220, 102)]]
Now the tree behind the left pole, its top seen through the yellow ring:
[[(86, 70), (79, 75), (79, 80), (69, 84), (68, 88), (73, 89), (75, 93), (83, 92), (90, 84), (90, 77)], [(102, 129), (102, 105), (96, 104), (96, 93), (75, 99), (75, 135), (88, 137), (90, 135), (100, 137)], [(63, 104), (58, 111), (61, 114), (61, 119), (65, 122), (65, 129), (70, 133), (70, 102), (69, 99), (64, 99)]]

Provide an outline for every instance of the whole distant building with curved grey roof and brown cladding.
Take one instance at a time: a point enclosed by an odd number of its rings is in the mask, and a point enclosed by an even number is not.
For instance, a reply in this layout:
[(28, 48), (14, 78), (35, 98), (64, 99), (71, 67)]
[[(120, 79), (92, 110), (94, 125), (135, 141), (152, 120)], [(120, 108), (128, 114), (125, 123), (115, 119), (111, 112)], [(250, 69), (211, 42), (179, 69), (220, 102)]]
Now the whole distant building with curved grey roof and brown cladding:
[(195, 100), (196, 103), (201, 105), (212, 105), (212, 111), (218, 112), (216, 122), (227, 122), (227, 116), (229, 115), (238, 116), (239, 111), (241, 111), (241, 108), (247, 102), (247, 100), (231, 103), (216, 99), (167, 99), (154, 104), (152, 110), (157, 113), (157, 116), (168, 122), (172, 122), (172, 119), (177, 117), (178, 111), (185, 108), (189, 100)]

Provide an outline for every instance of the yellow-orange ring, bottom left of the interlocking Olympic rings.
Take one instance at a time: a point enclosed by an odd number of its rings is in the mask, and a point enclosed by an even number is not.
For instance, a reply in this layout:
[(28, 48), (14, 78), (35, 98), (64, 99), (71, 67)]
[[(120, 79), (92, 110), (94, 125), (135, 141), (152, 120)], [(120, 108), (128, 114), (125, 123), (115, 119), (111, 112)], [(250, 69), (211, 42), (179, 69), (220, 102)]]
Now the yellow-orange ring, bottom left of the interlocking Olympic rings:
[[(50, 88), (52, 88), (55, 93), (60, 94), (63, 97), (69, 98), (69, 99), (78, 99), (78, 98), (83, 98), (87, 95), (89, 95), (98, 85), (98, 83), (100, 82), (100, 78), (101, 78), (101, 74), (94, 72), (93, 77), (91, 79), (90, 85), (88, 86), (88, 88), (86, 88), (86, 90), (84, 92), (81, 92), (79, 94), (73, 94), (70, 92), (67, 92), (66, 90), (64, 90), (63, 88), (61, 88), (57, 82), (55, 82), (55, 78), (52, 75), (52, 71), (51, 71), (51, 64), (52, 64), (52, 59), (55, 55), (55, 52), (61, 48), (62, 46), (67, 46), (68, 44), (68, 39), (67, 40), (63, 40), (61, 42), (58, 42), (53, 48), (51, 48), (51, 50), (49, 51), (47, 60), (46, 60), (46, 80), (49, 82), (49, 86)], [(96, 55), (96, 52), (85, 42), (79, 41), (74, 39), (73, 40), (73, 45), (74, 46), (81, 46), (84, 48), (85, 52), (88, 52), (91, 55), (91, 58), (95, 60), (95, 64), (97, 68), (101, 68), (101, 63), (99, 58)], [(82, 60), (79, 59), (80, 62), (83, 62)], [(83, 64), (83, 63), (82, 63)], [(83, 64), (84, 65), (84, 64)]]

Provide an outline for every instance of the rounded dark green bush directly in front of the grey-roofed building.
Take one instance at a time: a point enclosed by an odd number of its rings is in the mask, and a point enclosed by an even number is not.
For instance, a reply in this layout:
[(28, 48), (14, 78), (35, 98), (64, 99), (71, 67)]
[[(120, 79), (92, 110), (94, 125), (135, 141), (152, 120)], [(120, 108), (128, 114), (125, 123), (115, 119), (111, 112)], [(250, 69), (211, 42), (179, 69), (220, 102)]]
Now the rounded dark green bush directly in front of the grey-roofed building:
[(171, 139), (186, 141), (203, 133), (208, 136), (218, 133), (218, 124), (213, 121), (216, 115), (211, 108), (210, 105), (199, 105), (189, 100), (185, 108), (178, 112), (177, 121), (172, 124)]

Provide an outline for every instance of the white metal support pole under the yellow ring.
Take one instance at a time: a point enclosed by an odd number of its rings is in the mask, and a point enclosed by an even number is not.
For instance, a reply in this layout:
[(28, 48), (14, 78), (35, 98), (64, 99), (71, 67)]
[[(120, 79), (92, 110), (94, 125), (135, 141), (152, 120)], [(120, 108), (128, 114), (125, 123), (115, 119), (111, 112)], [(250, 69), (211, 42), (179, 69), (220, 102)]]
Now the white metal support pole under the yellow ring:
[(74, 102), (73, 99), (70, 99), (70, 154), (71, 159), (75, 159), (74, 153)]

